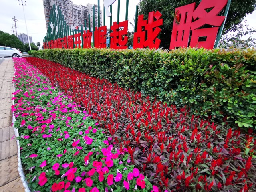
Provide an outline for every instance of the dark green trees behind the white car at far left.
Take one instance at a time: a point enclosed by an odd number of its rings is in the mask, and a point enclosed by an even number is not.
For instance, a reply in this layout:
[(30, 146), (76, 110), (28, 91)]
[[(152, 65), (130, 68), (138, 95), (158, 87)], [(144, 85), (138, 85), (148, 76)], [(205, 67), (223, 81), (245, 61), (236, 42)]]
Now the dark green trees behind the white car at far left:
[(20, 51), (24, 49), (24, 44), (14, 34), (10, 35), (2, 31), (0, 31), (0, 45), (20, 49)]

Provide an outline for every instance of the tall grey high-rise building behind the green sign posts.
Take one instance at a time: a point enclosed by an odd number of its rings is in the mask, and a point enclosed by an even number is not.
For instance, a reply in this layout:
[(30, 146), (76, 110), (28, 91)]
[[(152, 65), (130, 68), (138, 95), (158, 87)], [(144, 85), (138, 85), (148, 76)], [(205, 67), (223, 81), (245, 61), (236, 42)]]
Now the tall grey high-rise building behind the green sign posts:
[[(91, 27), (93, 24), (93, 5), (87, 6), (73, 4), (71, 0), (43, 0), (44, 15), (46, 19), (46, 27), (48, 27), (50, 19), (50, 10), (53, 4), (59, 6), (67, 25), (72, 29), (75, 26), (84, 26), (84, 20), (87, 20), (87, 27), (89, 26), (89, 13), (91, 14)], [(98, 6), (95, 6), (95, 26), (98, 24)], [(102, 26), (102, 11), (100, 11), (100, 23)]]

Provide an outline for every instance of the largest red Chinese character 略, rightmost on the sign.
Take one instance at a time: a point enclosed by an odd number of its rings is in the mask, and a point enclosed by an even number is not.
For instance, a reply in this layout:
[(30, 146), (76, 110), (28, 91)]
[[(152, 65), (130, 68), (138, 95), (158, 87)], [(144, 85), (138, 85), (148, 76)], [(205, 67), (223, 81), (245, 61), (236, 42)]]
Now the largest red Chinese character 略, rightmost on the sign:
[[(196, 9), (195, 3), (176, 8), (170, 49), (187, 47), (188, 45), (190, 47), (212, 49), (218, 29), (225, 19), (225, 16), (218, 16), (218, 14), (226, 4), (227, 0), (202, 0)], [(201, 28), (206, 24), (215, 27)], [(200, 38), (204, 38), (204, 41), (200, 41)]]

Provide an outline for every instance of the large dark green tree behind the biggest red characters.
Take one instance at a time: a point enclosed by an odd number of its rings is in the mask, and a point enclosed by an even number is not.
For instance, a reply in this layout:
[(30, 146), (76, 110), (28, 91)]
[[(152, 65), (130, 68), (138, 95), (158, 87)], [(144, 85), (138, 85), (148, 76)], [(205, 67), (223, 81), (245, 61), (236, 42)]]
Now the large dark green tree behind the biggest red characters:
[[(160, 46), (169, 49), (175, 8), (194, 2), (198, 6), (200, 0), (141, 0), (139, 3), (139, 14), (144, 14), (144, 19), (147, 19), (149, 12), (157, 10), (161, 12), (163, 15), (163, 26), (161, 27), (162, 41)], [(232, 0), (223, 34), (226, 34), (228, 31), (236, 31), (238, 24), (242, 22), (246, 14), (252, 13), (255, 7), (256, 0)], [(223, 15), (223, 13), (224, 10), (221, 14)]]

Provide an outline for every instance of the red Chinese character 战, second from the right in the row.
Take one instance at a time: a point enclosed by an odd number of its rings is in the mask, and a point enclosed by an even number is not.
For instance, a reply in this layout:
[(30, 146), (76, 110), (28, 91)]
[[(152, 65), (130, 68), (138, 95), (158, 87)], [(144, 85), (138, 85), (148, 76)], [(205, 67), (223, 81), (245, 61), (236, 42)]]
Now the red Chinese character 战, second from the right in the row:
[[(162, 14), (159, 11), (149, 12), (148, 20), (144, 20), (144, 16), (139, 15), (137, 32), (134, 33), (133, 38), (133, 49), (146, 47), (149, 47), (149, 49), (159, 48), (161, 40), (157, 36), (161, 32), (159, 26), (163, 25), (163, 19), (160, 19), (161, 16)], [(145, 29), (144, 31), (143, 28)]]

